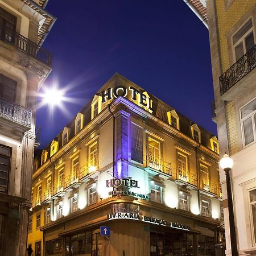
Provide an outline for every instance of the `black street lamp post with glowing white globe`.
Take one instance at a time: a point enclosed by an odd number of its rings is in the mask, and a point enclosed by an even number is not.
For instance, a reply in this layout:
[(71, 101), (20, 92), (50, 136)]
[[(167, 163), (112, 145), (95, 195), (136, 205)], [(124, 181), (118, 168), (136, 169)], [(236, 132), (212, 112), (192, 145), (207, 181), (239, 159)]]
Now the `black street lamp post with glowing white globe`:
[(228, 155), (224, 155), (220, 160), (220, 167), (225, 171), (226, 174), (226, 192), (228, 196), (228, 208), (229, 208), (229, 232), (230, 232), (230, 242), (232, 256), (237, 256), (237, 237), (236, 237), (236, 227), (234, 222), (234, 208), (232, 199), (232, 190), (230, 182), (230, 170), (233, 167), (233, 160)]

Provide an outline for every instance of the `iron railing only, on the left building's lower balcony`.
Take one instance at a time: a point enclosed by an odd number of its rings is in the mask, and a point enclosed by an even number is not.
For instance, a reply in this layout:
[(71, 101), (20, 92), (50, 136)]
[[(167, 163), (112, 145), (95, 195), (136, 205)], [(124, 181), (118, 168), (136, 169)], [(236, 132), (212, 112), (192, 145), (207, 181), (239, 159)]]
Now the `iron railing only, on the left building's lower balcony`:
[(0, 116), (31, 127), (32, 111), (12, 102), (0, 100)]

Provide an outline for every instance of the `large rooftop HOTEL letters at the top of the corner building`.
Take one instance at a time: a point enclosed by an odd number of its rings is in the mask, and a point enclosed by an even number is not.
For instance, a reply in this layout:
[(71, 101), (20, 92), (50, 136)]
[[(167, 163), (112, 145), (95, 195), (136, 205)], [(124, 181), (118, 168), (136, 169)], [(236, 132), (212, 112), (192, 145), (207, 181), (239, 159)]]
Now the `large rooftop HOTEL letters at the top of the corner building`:
[(113, 100), (113, 98), (117, 98), (118, 96), (126, 97), (128, 92), (131, 92), (129, 100), (138, 102), (139, 105), (145, 107), (150, 113), (152, 113), (153, 109), (151, 98), (148, 95), (139, 92), (139, 90), (135, 89), (133, 86), (129, 86), (129, 89), (127, 89), (125, 86), (120, 85), (115, 88), (110, 87), (107, 90), (102, 90), (100, 93), (102, 103)]

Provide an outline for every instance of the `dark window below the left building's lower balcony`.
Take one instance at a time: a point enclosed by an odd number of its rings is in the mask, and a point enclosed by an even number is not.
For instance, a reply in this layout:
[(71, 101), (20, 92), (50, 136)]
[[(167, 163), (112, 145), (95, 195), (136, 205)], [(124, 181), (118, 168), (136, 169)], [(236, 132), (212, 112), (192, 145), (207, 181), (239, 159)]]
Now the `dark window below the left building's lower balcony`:
[(0, 192), (7, 193), (11, 163), (11, 148), (0, 145)]

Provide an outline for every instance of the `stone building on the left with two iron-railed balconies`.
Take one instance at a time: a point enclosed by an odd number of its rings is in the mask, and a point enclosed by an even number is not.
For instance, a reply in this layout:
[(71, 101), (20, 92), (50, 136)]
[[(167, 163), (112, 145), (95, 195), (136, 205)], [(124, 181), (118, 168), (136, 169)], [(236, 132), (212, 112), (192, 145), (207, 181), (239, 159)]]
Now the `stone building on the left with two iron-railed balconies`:
[(47, 1), (0, 1), (0, 255), (26, 255), (36, 92), (51, 72), (41, 47)]

